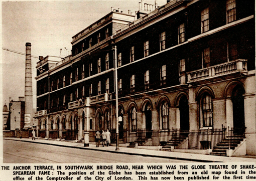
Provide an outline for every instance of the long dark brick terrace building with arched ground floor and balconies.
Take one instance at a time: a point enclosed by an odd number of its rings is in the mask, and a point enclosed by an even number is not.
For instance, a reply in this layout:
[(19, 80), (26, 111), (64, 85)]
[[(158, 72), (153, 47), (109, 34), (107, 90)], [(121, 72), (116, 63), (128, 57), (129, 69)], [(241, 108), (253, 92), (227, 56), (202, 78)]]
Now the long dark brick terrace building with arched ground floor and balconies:
[(254, 1), (235, 0), (111, 9), (71, 55), (37, 63), (38, 137), (109, 129), (120, 146), (255, 155), (254, 16)]

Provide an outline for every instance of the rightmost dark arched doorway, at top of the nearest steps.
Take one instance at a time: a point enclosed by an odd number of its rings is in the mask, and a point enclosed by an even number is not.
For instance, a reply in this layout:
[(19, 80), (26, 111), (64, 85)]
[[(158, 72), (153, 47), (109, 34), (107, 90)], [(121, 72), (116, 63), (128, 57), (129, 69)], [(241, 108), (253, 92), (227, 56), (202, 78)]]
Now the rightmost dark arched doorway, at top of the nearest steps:
[(232, 91), (233, 127), (234, 131), (244, 132), (244, 90), (241, 86), (235, 86)]

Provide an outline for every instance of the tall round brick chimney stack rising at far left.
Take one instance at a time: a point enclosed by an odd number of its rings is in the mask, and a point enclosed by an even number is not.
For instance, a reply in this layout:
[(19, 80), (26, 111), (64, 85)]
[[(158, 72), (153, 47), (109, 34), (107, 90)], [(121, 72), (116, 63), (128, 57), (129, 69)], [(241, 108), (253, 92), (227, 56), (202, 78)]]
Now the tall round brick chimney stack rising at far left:
[(32, 92), (32, 65), (31, 43), (26, 43), (26, 70), (25, 70), (25, 127), (33, 119), (33, 92)]

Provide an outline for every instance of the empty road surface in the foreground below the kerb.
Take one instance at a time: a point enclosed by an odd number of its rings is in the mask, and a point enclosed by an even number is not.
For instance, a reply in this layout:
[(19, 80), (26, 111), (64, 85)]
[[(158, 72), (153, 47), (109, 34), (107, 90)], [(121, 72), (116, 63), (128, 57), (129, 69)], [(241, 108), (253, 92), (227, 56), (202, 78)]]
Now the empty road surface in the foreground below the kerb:
[(3, 140), (4, 163), (160, 163), (184, 160)]

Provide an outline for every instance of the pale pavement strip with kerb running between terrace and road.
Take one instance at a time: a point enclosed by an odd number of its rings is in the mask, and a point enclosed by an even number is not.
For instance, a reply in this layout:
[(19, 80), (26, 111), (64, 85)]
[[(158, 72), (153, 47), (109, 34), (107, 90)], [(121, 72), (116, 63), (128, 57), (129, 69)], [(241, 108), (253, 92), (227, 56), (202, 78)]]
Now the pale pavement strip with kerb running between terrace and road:
[(75, 141), (57, 141), (57, 140), (45, 140), (31, 138), (13, 138), (5, 137), (6, 140), (24, 141), (39, 144), (48, 144), (54, 146), (70, 147), (77, 149), (89, 149), (97, 151), (106, 151), (119, 154), (130, 154), (130, 155), (141, 155), (141, 156), (151, 156), (151, 157), (161, 157), (169, 159), (178, 160), (189, 160), (198, 162), (256, 162), (255, 156), (241, 156), (241, 157), (227, 157), (227, 156), (215, 156), (215, 155), (205, 155), (205, 154), (195, 154), (195, 153), (182, 153), (174, 151), (160, 151), (152, 149), (142, 149), (142, 148), (129, 148), (129, 147), (119, 147), (119, 150), (115, 150), (116, 146), (102, 146), (96, 147), (95, 142), (90, 142), (88, 147), (84, 147), (83, 143), (78, 143)]

